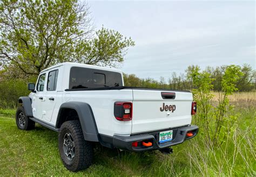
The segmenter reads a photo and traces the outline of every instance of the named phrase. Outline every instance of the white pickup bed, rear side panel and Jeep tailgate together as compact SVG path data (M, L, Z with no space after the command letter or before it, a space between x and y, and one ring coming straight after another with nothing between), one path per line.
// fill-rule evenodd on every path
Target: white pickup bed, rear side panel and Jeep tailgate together
M91 105L99 133L113 135L108 132L113 130L117 135L130 135L191 124L193 98L190 91L127 86L76 88L65 91L71 93L70 98L73 98L73 101L74 98L83 98L83 101ZM164 98L162 93L174 94L174 98ZM113 114L114 102L128 100L133 104L132 120L116 120ZM165 109L166 106L168 109ZM110 125L105 124L104 119L108 118L110 119L107 121L112 122L111 127L105 126Z

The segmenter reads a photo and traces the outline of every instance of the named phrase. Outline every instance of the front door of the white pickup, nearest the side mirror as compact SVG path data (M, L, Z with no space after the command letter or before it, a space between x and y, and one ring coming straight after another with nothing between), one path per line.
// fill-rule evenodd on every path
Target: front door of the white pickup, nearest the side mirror
M44 101L45 76L46 76L45 73L43 73L39 76L37 86L36 86L35 97L33 97L33 101L32 101L33 116L37 119L43 118L43 107L42 106L43 106L43 101Z

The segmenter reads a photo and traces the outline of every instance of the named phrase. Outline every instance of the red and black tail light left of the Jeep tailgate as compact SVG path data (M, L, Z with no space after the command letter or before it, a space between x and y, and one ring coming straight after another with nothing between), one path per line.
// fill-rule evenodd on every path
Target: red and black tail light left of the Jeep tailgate
M114 103L114 117L120 121L132 120L132 103L121 101Z

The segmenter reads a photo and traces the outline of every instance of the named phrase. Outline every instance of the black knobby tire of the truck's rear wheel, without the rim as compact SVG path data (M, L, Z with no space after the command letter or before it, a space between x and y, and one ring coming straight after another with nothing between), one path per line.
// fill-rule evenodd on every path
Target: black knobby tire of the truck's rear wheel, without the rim
M66 156L64 148L64 137L71 134L75 153L72 159ZM93 147L91 142L84 140L84 135L78 120L66 121L62 124L58 135L58 147L60 158L69 171L77 172L88 168L92 164Z

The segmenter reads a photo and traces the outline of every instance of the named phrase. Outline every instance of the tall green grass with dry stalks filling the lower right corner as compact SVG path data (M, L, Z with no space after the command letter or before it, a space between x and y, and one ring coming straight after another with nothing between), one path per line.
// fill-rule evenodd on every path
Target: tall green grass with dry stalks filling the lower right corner
M156 176L254 176L255 140L252 130L235 130L228 134L225 145L215 148L199 135L185 142L172 156L166 156L159 168L151 169ZM180 158L184 158L180 160ZM158 163L160 163L158 161ZM156 165L158 164L156 163Z

